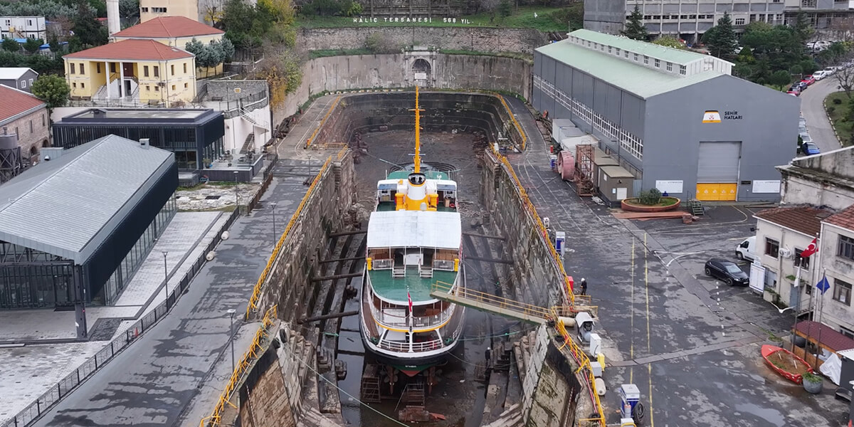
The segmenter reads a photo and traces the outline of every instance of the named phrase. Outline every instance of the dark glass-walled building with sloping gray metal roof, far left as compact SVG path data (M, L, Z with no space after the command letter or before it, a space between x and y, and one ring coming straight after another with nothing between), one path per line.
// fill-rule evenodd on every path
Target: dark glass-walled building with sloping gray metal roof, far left
M178 167L114 135L48 157L0 185L0 309L80 315L116 301L173 218Z

